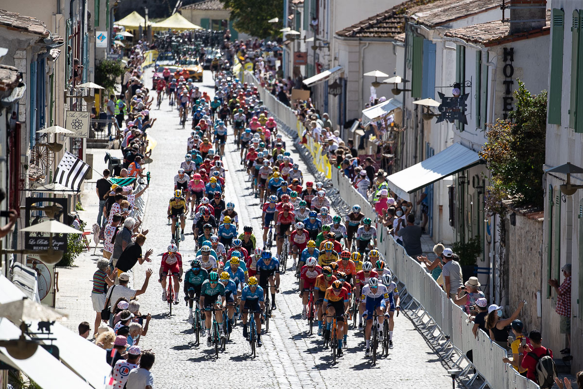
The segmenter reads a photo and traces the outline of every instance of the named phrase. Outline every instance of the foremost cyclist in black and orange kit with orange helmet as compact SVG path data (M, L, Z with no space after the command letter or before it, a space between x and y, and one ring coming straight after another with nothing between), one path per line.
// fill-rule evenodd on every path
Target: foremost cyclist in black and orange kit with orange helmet
M345 282L337 279L332 282L332 286L326 289L324 294L324 309L326 310L326 331L324 331L324 339L330 339L330 329L332 325L332 317L336 316L338 339L338 356L342 356L342 340L345 336L345 318L348 317L350 308L350 292L345 288ZM335 347L336 345L332 345Z

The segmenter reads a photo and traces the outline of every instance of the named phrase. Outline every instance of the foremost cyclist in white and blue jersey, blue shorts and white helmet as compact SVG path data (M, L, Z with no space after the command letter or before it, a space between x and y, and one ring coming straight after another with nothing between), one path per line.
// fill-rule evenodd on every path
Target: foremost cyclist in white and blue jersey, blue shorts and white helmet
M367 285L364 286L360 299L364 302L366 307L366 312L363 314L363 316L366 317L366 331L364 331L366 351L364 352L364 356L370 356L370 330L373 327L373 314L375 311L378 315L378 337L381 341L384 337L382 333L382 324L385 320L385 307L387 306L387 300L389 300L387 286L378 282L378 278L372 277L368 280Z

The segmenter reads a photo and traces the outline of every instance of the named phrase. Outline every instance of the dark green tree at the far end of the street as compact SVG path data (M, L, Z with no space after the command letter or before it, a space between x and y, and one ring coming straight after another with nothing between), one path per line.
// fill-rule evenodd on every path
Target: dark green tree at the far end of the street
M258 38L279 36L282 23L269 23L269 19L282 19L283 0L221 0L231 9L235 29Z

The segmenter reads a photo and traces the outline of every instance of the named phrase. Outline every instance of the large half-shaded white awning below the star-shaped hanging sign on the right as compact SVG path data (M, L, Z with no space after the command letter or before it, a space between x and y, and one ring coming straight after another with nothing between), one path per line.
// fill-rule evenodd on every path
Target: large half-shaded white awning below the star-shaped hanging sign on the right
M398 197L410 201L410 193L458 171L476 166L481 161L482 158L478 153L462 146L460 143L454 143L423 162L391 174L391 176L387 177L387 183Z

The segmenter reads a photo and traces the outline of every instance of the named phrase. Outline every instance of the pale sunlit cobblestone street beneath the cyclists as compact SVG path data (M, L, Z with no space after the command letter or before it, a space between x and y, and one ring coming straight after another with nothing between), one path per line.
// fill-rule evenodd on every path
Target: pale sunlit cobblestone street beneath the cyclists
M151 83L152 72L146 72L144 79ZM210 72L205 71L202 91L213 95L213 80ZM152 268L145 295L139 297L142 314L151 313L152 322L147 336L141 339L142 349L152 349L156 353L153 373L156 388L336 388L342 387L391 387L391 388L448 388L451 378L436 353L426 344L412 322L401 315L395 317L394 348L387 357L380 358L376 366L364 358L364 337L362 332L353 330L350 325L347 348L343 358L336 365L331 364L331 353L322 347L321 338L308 335L307 321L302 321L301 300L298 296L297 282L293 272L282 275L281 293L276 296L278 308L270 330L262 336L264 345L257 349L257 358L250 358L250 346L241 336L241 327L234 328L226 351L214 358L214 353L206 347L205 339L199 346L194 345L194 335L188 324L188 309L185 306L182 285L180 304L173 307L172 316L168 315L168 305L162 301L161 286L158 282L160 255L170 243L170 226L167 224L166 211L168 199L173 195L173 178L180 163L184 160L186 141L190 135L190 121L187 128L179 125L178 113L171 110L164 100L160 110L151 110L157 118L154 128L149 131L157 142L153 149L152 160L146 170L152 174L147 190L147 206L144 228L149 229L145 250L154 250L153 261L134 267L132 283L139 288L145 271ZM239 153L232 143L232 132L227 139L224 157L226 171L226 201L235 204L239 215L240 231L243 225L252 225L254 234L261 243L261 209L259 199L255 198L247 181L247 174L240 164ZM287 150L295 162L300 164L305 181L313 180L307 167L294 150L291 139L284 135ZM104 150L94 151L94 168L103 170ZM113 155L119 156L118 150ZM94 181L86 183L83 206L86 212L87 228L94 223L97 209ZM187 219L186 240L180 244L183 264L194 259L194 240L191 229L192 219ZM92 243L93 246L93 243ZM275 248L274 248L275 251ZM97 253L99 254L99 248ZM98 255L83 253L76 261L78 267L59 269L60 292L57 296L57 309L69 314L68 327L76 331L80 321L86 320L93 326L90 278L96 269L94 262ZM289 261L291 264L291 260ZM291 270L291 267L288 268ZM315 332L315 331L314 331Z

